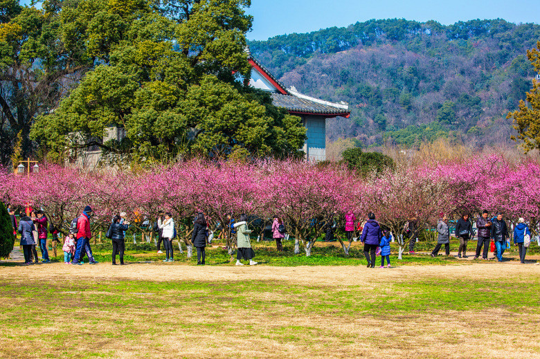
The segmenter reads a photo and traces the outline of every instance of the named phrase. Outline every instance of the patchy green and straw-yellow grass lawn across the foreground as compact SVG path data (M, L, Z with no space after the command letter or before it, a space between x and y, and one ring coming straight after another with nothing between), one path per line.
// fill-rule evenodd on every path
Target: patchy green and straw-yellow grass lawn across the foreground
M540 358L539 266L354 260L4 262L0 358Z

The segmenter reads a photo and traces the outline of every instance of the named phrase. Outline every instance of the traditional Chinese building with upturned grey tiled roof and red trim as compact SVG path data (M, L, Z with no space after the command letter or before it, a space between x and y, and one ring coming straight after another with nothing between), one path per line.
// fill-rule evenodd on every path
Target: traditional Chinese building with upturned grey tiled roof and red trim
M275 106L283 107L291 115L302 118L302 123L307 128L307 140L303 147L306 158L308 160L325 160L326 119L337 116L348 118L350 116L349 105L343 101L336 103L312 98L299 93L294 87L286 89L251 55L249 63L253 66L249 84L255 89L271 92Z

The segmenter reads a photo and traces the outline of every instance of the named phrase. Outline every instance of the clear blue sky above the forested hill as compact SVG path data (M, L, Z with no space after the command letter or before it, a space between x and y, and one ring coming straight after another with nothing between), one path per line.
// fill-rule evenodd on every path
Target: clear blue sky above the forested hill
M369 19L427 21L441 24L471 19L501 18L510 22L540 22L540 0L251 0L250 40L275 35L309 33L332 26L348 26Z

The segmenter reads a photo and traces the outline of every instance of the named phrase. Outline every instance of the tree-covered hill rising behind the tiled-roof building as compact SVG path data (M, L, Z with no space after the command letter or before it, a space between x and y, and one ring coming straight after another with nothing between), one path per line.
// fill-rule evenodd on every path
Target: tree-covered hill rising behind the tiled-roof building
M485 145L510 141L505 117L532 86L526 51L539 40L540 25L503 19L387 19L249 47L286 86L349 102L351 117L329 126L330 140L413 145L446 136Z

